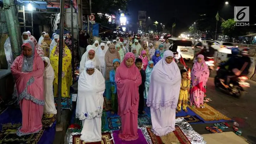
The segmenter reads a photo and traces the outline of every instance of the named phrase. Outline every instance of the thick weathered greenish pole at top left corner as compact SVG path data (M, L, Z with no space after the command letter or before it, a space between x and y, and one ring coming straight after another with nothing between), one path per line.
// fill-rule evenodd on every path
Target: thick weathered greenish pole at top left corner
M4 10L6 25L10 37L13 60L20 55L20 47L22 45L20 23L18 20L18 13L16 3L14 0L3 0L4 7L9 7Z

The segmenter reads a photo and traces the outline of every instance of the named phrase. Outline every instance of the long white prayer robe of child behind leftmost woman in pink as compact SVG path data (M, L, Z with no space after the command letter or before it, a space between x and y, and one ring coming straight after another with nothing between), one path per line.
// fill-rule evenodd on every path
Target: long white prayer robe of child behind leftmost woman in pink
M50 63L50 59L47 57L42 58L48 65L44 68L44 113L57 114L57 110L54 104L54 96L52 90L52 84L54 80L54 71Z

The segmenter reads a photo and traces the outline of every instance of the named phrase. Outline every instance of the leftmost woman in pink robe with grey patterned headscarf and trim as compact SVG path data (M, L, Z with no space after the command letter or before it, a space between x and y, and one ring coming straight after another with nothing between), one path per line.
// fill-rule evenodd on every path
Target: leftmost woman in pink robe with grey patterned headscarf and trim
M44 62L33 41L24 41L22 53L13 61L11 71L22 112L22 125L17 135L37 133L42 129L44 112Z

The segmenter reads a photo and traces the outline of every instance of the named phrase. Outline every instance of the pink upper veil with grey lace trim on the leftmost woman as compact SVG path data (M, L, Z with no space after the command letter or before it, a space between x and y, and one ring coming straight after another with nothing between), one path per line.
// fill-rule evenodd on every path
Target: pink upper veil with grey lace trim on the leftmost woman
M11 71L15 79L17 94L20 101L26 99L38 105L44 105L44 62L37 54L33 41L26 40L24 43L26 43L23 44L25 46L30 45L34 55L26 58L21 52L21 55L12 63Z

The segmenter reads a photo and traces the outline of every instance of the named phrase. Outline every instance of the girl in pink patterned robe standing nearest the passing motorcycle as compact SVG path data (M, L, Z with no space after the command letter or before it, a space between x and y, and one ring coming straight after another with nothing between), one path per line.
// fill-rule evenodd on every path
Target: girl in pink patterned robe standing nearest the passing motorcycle
M209 75L209 68L204 61L204 56L199 54L191 70L192 88L189 99L191 106L204 108L204 93L206 92L206 83Z

